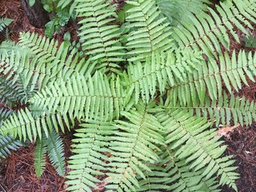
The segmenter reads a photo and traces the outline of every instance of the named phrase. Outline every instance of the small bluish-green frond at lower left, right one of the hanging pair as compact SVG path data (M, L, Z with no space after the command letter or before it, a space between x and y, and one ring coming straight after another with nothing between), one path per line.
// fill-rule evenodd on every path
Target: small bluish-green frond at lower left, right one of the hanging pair
M60 138L59 134L53 130L50 132L49 136L47 138L43 138L43 140L46 143L46 148L51 164L57 170L57 173L64 177L65 156L62 138Z

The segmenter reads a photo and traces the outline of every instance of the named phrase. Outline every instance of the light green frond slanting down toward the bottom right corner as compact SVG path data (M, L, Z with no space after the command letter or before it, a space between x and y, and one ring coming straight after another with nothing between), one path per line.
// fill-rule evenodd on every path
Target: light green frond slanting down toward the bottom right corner
M220 146L222 143L218 141L214 129L207 130L210 123L206 123L206 118L192 117L184 110L169 110L168 114L159 114L158 119L162 125L168 130L166 134L166 145L168 151L174 151L174 154L169 155L175 157L178 162L177 166L184 170L173 170L173 164L170 164L167 169L170 169L170 176L174 177L171 182L174 185L171 190L184 188L184 182L191 182L190 186L198 184L198 180L189 178L187 181L184 177L178 176L179 172L184 172L188 177L191 177L190 170L202 170L199 177L209 179L214 174L219 176L220 185L228 185L237 190L234 181L238 178L238 174L234 173L236 167L230 166L234 161L230 160L230 156L221 158L220 156L226 150L226 146ZM169 158L170 158L169 157ZM168 162L170 160L166 160ZM177 173L177 174L176 174ZM180 189L179 189L180 190ZM177 191L179 191L177 190Z

